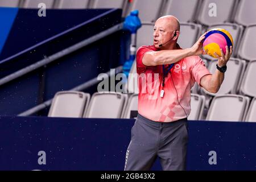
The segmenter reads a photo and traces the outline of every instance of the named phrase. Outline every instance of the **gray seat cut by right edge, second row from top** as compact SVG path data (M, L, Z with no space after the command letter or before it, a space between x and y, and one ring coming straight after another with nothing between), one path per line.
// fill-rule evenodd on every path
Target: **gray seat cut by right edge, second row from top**
M241 44L238 49L238 57L247 61L256 60L256 24L245 29Z

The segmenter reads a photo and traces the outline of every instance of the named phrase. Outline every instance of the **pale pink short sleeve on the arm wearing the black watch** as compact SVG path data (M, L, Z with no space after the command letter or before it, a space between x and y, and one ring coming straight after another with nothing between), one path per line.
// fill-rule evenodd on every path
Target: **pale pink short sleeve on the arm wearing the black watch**
M201 77L205 75L212 75L212 73L209 72L205 67L204 61L199 57L192 68L192 77L200 85Z

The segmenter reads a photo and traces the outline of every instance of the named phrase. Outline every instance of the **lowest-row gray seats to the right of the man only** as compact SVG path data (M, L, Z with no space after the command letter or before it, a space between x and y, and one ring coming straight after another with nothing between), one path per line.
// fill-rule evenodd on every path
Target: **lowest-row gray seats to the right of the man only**
M191 114L188 119L256 122L256 97L250 102L249 97L237 94L219 94L214 96L206 118L203 116L204 106L204 96L191 94Z

